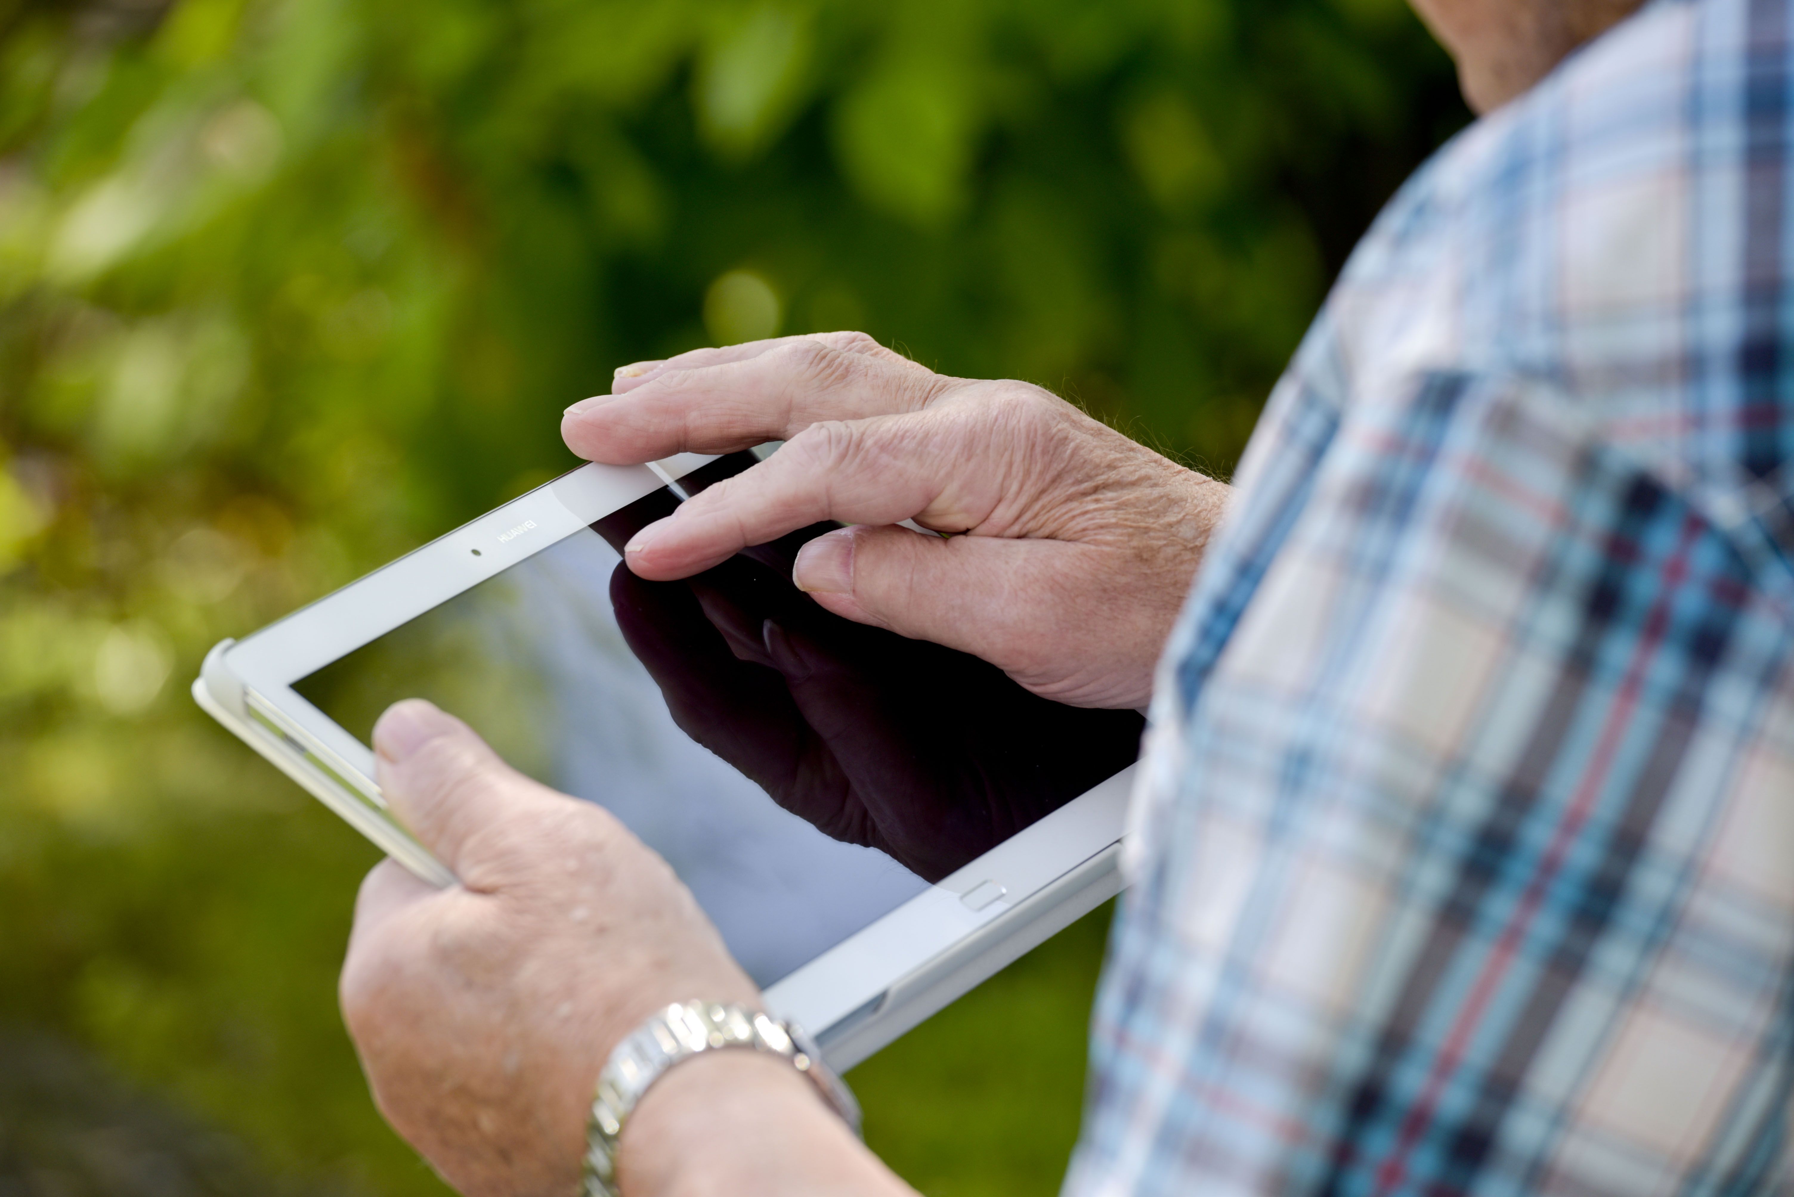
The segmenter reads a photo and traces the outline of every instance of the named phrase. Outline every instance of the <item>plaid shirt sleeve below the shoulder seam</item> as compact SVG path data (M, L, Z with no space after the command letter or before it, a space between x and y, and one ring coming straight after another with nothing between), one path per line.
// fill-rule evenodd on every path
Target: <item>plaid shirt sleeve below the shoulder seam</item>
M1525 380L1292 383L1247 473L1067 1193L1787 1184L1785 564Z

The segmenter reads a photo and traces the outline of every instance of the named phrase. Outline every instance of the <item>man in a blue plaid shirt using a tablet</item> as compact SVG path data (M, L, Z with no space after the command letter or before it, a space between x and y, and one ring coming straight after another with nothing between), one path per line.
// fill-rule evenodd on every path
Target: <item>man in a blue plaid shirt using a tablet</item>
M1231 498L852 335L626 367L563 432L789 441L640 532L644 577L838 518L797 564L829 609L1067 702L1152 693L1067 1192L1787 1190L1794 13L1421 7L1489 115L1365 238ZM465 1192L569 1193L612 1046L757 995L601 810L427 704L377 749L465 887L364 887L375 1095ZM671 1068L617 1167L902 1190L750 1052Z

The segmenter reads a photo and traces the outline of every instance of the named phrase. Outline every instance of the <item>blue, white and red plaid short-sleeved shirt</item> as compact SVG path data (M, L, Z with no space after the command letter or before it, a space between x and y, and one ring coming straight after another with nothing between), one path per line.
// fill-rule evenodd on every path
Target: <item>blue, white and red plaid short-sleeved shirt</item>
M1794 0L1444 149L1157 686L1067 1192L1794 1192Z

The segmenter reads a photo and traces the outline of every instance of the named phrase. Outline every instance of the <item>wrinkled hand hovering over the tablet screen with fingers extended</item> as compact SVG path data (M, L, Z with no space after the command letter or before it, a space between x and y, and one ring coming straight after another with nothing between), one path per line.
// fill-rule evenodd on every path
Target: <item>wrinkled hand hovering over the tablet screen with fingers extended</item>
M626 550L640 577L852 523L797 561L822 606L1078 706L1145 706L1227 496L1039 387L935 375L863 333L700 349L624 367L614 389L562 421L590 461L786 441L642 529Z

